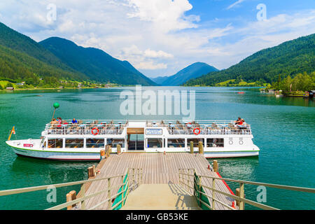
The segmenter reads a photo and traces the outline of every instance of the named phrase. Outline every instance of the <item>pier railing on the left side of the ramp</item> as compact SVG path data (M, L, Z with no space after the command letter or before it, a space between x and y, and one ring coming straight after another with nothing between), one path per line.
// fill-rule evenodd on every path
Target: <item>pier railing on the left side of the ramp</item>
M118 185L112 185L111 183L115 180L119 179L120 184ZM89 200L92 197L96 197L98 195L102 195L104 193L107 193L107 198L105 200L102 200L102 202L99 202L97 204L94 204L92 207L89 207L87 210L97 209L98 207L101 207L102 205L106 204L108 202L107 209L109 210L118 210L121 207L124 206L125 201L127 200L127 196L130 193L131 190L134 190L135 188L138 188L139 185L141 185L143 179L143 169L139 168L130 168L127 169L127 172L123 175L117 175L117 176L110 176L105 178L99 178L99 179L90 179L87 181L74 181L74 182L68 182L68 183L57 183L57 184L51 184L51 185L45 185L45 186L36 186L31 188L18 188L18 189L11 189L11 190L1 190L0 196L5 195L17 195L21 193L29 193L34 192L38 190L47 190L48 188L62 188L67 186L76 186L76 185L82 185L80 196L79 198L75 200L71 200L70 202L65 202L62 204L59 204L55 207L50 207L46 210L59 210L64 208L72 208L73 209L86 209L86 201ZM86 183L92 183L95 181L107 181L107 187L99 190L97 193L92 193L90 195L85 195L85 184ZM113 190L117 190L119 188L117 193L113 194ZM112 203L112 200L113 203Z

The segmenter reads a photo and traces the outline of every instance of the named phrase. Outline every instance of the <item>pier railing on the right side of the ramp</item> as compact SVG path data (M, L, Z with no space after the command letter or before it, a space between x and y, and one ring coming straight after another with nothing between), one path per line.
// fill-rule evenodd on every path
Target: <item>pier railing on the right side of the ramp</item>
M202 179L210 179L212 181L212 187L202 184ZM234 183L239 183L239 188L237 189L237 194L232 195L231 193L223 192L222 190L216 188L216 181L230 181ZM239 210L244 210L245 204L251 204L253 207L265 210L279 210L274 207L270 207L259 202L254 202L253 200L248 200L244 196L244 185L253 186L265 186L269 188L277 188L282 190L293 190L304 193L315 193L315 188L301 188L295 186L283 186L272 183L259 183L253 181L242 181L234 179L219 178L214 176L200 175L195 172L195 169L179 169L179 183L188 189L188 192L196 197L196 200L202 209L216 210L216 203L222 204L223 207L227 207L230 210L236 210L236 206L225 204L216 198L216 194L222 194L227 197L234 199L237 203ZM211 193L206 193L204 189L211 190ZM234 204L235 205L235 204Z

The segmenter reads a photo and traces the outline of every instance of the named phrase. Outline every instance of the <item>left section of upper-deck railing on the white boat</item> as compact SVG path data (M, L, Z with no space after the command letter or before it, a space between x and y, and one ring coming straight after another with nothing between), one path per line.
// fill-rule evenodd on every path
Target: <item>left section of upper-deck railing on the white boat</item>
M63 120L62 123L49 123L45 127L45 134L123 134L128 121L119 120Z

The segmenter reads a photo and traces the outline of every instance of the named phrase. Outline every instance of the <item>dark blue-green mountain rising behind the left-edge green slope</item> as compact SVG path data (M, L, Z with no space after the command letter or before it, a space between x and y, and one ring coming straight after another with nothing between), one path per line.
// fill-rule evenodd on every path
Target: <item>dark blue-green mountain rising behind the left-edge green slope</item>
M39 42L67 66L92 80L124 85L156 85L127 61L120 61L103 50L83 48L64 38L51 37Z

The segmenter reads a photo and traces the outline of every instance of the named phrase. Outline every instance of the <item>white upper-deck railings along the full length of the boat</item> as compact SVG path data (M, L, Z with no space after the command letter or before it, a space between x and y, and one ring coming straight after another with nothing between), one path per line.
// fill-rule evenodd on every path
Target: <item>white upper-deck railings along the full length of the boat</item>
M132 121L132 120L131 120ZM144 121L144 120L134 120ZM63 120L62 123L48 123L44 134L123 134L129 120ZM235 125L233 120L194 120L179 122L179 120L146 120L145 127L165 127L172 135L199 135L199 134L252 134L251 125Z

